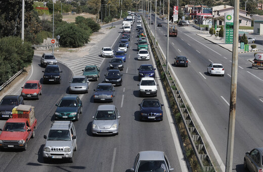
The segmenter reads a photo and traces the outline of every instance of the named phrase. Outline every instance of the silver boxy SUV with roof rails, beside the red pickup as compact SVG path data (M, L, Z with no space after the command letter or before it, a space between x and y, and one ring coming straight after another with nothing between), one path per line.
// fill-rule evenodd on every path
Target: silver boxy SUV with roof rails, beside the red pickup
M49 135L44 135L46 145L43 147L43 161L51 159L68 159L73 162L73 151L77 150L76 130L72 121L55 121L51 124Z

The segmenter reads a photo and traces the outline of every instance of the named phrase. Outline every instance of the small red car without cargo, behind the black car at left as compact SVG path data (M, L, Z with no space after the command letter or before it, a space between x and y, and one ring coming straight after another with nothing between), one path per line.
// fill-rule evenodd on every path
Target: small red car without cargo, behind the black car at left
M39 95L42 95L42 85L39 80L28 80L24 87L22 87L21 96L24 99L34 98L39 99Z

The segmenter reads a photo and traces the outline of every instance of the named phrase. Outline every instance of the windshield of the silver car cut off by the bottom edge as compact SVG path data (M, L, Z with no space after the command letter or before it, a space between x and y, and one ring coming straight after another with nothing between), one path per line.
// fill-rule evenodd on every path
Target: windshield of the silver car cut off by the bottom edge
M163 160L155 161L139 161L138 163L138 172L146 171L167 171L167 166Z

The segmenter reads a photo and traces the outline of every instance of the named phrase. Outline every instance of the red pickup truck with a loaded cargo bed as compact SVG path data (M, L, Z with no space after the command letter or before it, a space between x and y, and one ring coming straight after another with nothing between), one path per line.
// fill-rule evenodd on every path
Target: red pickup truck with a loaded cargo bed
M13 118L7 120L1 135L0 148L21 148L27 149L30 138L35 137L36 118L34 107L19 105L13 109Z

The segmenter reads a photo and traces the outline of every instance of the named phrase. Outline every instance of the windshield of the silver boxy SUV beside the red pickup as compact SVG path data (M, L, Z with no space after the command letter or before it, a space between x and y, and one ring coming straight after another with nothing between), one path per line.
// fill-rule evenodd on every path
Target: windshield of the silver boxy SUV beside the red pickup
M48 140L70 141L69 130L50 130Z

